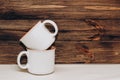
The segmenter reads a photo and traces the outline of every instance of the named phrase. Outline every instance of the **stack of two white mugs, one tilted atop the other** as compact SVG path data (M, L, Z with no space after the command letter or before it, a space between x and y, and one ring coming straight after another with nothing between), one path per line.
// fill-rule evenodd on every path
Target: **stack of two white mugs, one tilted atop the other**
M55 32L51 33L45 24L51 24ZM58 27L52 20L39 21L31 28L21 39L27 51L21 51L17 57L18 66L22 69L28 69L32 74L49 74L54 72L55 47L52 46L55 36L58 33ZM27 56L26 65L20 63L23 55Z

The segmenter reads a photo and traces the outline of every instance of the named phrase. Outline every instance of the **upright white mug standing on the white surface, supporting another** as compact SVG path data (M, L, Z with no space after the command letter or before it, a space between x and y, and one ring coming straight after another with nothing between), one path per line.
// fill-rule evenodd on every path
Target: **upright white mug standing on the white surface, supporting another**
M27 56L27 63L23 66L20 59L23 55ZM17 57L17 64L22 69L28 69L32 74L49 74L54 72L55 65L55 47L50 50L32 50L21 51Z

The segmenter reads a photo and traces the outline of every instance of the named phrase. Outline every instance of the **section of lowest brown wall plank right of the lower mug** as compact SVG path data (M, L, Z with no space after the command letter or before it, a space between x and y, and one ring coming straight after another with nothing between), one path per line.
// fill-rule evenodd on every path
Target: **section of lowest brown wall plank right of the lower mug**
M99 42L99 41L66 41L56 42L58 48L56 60L58 63L119 63L120 42ZM92 53L94 59L88 57Z

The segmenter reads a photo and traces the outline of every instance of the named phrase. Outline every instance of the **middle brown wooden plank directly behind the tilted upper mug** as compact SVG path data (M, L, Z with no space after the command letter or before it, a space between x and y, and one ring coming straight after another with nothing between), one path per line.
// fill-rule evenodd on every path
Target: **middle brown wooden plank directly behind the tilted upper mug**
M95 26L86 21L54 20L58 24L58 41L91 40L99 33ZM120 40L120 20L94 20L104 29L101 41ZM0 40L19 40L38 20L0 20ZM49 27L49 26L48 26Z

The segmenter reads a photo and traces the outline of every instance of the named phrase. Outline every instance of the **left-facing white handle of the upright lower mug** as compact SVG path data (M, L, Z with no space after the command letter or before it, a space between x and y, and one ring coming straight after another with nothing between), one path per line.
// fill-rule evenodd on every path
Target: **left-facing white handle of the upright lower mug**
M21 51L17 57L17 64L20 68L22 69L27 69L28 68L28 63L25 66L22 66L22 64L20 63L20 59L22 57L22 55L26 55L28 57L28 52L27 51Z

